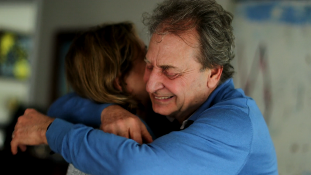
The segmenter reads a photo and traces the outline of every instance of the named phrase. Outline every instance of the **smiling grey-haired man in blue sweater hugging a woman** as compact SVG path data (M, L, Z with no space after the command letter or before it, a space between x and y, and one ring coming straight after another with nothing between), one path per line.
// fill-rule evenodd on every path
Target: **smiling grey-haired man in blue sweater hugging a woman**
M213 0L167 0L147 20L146 89L153 110L179 121L180 131L138 144L27 110L13 153L17 145L49 144L90 174L278 174L262 114L231 79L231 14ZM89 113L106 107L79 100Z

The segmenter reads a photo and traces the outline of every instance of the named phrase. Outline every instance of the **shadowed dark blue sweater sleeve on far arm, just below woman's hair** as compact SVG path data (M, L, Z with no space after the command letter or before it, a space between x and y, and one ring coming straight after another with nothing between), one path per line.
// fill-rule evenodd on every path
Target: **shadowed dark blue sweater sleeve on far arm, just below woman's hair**
M98 104L73 92L58 98L49 107L47 115L61 118L71 123L82 123L88 126L99 127L101 112L110 105L113 104Z

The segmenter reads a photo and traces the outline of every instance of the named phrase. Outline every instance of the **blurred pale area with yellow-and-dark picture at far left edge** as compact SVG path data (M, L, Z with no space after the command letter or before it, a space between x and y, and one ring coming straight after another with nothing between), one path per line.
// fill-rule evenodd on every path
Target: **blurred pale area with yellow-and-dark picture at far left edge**
M12 120L19 102L29 103L37 9L34 1L0 1L0 126ZM0 129L0 148L3 137Z

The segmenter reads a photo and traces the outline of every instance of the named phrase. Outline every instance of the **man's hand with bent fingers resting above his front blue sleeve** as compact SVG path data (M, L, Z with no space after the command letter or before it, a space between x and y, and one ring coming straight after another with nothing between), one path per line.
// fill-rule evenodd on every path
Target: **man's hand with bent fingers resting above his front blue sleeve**
M100 129L129 139L139 144L151 143L152 137L142 121L121 106L106 107L101 113Z

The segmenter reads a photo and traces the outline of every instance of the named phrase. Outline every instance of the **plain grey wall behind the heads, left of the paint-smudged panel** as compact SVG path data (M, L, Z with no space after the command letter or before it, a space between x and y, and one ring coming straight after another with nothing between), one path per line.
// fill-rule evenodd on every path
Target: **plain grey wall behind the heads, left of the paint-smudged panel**
M74 29L94 26L103 22L132 21L140 37L149 42L143 31L142 13L151 12L162 0L45 0L42 2L39 21L39 45L35 53L36 66L33 70L33 87L30 100L33 104L49 105L51 92L51 70L54 34L59 29ZM218 0L225 8L230 0Z

